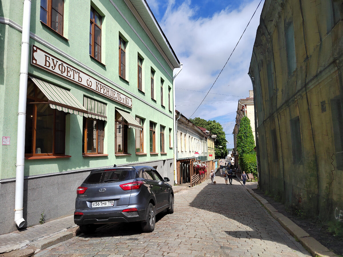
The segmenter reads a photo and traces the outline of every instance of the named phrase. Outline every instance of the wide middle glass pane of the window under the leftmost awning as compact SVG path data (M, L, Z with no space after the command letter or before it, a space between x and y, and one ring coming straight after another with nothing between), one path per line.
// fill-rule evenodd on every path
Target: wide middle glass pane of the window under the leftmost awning
M36 154L52 153L52 133L54 129L53 110L46 104L38 104L36 121Z

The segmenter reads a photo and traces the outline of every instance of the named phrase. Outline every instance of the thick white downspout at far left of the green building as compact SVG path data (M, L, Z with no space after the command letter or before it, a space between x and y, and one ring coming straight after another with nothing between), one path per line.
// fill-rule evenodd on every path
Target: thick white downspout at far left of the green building
M24 158L25 158L25 123L26 123L26 95L27 95L27 72L29 56L31 21L31 0L24 0L23 30L20 57L19 77L19 103L18 103L18 129L17 129L17 160L15 176L15 204L14 221L18 228L25 224L23 218L24 197Z

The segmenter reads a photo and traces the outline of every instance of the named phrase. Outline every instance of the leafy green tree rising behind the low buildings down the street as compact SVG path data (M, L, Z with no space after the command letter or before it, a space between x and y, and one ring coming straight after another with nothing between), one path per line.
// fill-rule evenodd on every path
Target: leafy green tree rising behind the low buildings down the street
M199 117L190 119L190 121L199 127L204 127L206 130L210 131L212 134L217 135L216 140L214 141L214 154L216 158L225 158L227 156L226 149L226 138L223 127L220 123L213 121L206 121Z

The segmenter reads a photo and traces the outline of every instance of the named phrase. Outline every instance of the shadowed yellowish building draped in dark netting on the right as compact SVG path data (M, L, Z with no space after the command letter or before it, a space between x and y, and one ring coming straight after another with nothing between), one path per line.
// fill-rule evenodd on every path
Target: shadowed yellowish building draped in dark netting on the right
M342 0L266 0L253 47L260 187L343 221Z

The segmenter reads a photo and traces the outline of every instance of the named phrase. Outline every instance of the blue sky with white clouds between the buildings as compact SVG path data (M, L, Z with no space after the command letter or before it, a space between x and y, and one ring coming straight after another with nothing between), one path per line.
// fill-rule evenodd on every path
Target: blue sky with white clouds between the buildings
M220 122L233 148L238 99L249 97L252 47L263 1L219 76L260 0L147 0L183 69L175 79L176 110ZM174 73L177 69L174 71ZM192 116L191 116L192 115Z

